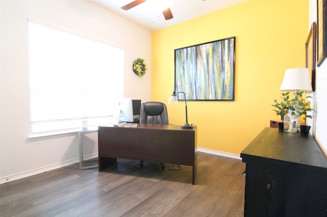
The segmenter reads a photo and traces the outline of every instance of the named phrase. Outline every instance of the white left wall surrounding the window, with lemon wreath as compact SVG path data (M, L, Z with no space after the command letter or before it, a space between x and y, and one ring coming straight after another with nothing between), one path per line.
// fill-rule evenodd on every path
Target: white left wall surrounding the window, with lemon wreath
M1 95L0 183L78 161L77 135L29 141L29 67L27 18L125 50L125 97L151 100L151 32L87 1L0 1ZM132 71L147 60L142 78ZM109 61L109 60L108 60ZM115 64L115 63L112 63ZM97 148L97 133L84 143Z

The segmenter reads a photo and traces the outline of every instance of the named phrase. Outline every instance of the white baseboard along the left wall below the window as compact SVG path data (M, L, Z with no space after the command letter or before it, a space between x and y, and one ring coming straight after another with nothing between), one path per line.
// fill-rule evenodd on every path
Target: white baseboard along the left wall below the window
M83 157L83 159L87 160L87 159L91 159L91 158L95 158L95 157L98 157L98 153L86 155L86 156ZM75 158L75 159L72 159L72 160L67 160L67 161L64 161L64 162L60 162L58 164L42 167L42 168L39 168L39 169L35 169L35 170L23 172L23 173L18 173L18 174L11 175L11 176L8 176L8 177L5 177L5 178L0 178L0 184L5 183L5 182L9 182L9 181L14 181L14 180L21 179L21 178L26 178L28 176L33 176L33 175L36 175L36 174L39 174L39 173L44 173L46 171L58 169L58 168L65 167L65 166L68 166L68 165L76 164L77 162L79 162L79 158Z

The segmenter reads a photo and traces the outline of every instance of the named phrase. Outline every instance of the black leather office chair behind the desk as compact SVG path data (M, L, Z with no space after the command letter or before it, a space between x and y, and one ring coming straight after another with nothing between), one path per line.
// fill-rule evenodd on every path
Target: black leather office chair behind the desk
M140 124L169 124L168 113L165 103L144 102L141 104L139 112ZM139 166L143 167L143 161L139 161ZM160 163L161 169L165 169L164 164Z

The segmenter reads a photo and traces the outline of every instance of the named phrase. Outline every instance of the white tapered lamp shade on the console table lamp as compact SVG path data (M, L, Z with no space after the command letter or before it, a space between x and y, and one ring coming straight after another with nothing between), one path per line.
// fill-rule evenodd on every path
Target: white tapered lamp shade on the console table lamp
M280 91L312 91L308 68L286 69Z

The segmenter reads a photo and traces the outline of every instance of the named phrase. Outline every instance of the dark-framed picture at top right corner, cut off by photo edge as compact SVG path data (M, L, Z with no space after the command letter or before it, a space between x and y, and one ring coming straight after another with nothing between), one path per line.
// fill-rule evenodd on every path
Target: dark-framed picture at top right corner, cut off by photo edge
M317 66L327 57L327 1L317 0Z

